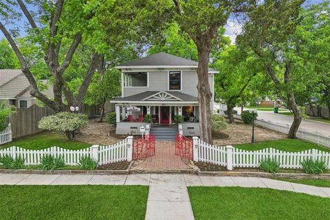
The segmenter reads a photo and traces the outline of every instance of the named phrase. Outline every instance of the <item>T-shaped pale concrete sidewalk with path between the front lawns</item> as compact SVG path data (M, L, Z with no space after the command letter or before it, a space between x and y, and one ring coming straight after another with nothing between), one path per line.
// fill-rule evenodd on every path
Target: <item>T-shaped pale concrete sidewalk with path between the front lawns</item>
M259 177L216 177L194 174L37 175L0 174L0 185L144 185L149 186L146 219L194 219L187 186L273 188L330 197L330 188Z

